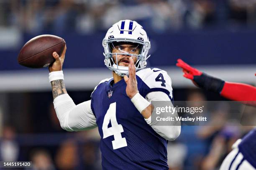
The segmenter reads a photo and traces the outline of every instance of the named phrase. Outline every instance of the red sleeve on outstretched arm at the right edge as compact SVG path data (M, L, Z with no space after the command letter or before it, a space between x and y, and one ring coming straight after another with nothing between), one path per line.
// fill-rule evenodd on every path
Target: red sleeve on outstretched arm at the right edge
M225 82L220 95L229 100L256 101L256 87L236 82ZM256 105L256 102L252 102L251 105Z

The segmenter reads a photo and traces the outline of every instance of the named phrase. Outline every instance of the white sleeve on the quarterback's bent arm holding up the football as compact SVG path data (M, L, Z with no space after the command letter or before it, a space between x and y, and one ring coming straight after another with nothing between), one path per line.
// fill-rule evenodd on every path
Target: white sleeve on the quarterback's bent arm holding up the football
M54 99L54 108L64 130L80 131L97 127L91 100L75 105L68 94L59 95Z

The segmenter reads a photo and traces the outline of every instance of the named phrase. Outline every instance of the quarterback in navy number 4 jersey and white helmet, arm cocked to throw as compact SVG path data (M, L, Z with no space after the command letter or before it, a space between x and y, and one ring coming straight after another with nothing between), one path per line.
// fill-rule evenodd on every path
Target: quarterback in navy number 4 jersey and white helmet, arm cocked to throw
M136 21L115 23L102 41L105 65L113 77L100 81L91 100L75 105L64 85L61 57L49 67L54 108L61 128L80 131L98 127L102 169L168 170L167 140L180 134L180 122L151 121L151 101L172 105L172 83L166 71L145 68L148 36ZM177 116L175 113L173 116Z

